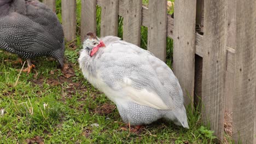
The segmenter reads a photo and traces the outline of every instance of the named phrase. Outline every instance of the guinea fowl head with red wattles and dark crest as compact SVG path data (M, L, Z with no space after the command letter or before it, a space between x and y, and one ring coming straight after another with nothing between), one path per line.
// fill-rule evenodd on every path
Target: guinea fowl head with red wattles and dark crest
M83 49L88 52L92 57L100 47L104 47L103 41L101 41L95 33L89 32L86 34L86 39L84 40Z

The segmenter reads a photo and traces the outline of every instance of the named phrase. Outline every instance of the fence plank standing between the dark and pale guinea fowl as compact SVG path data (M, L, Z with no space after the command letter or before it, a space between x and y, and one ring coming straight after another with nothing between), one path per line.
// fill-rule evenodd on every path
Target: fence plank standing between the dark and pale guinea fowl
M75 0L61 1L61 16L64 35L67 41L75 39L75 31L77 28L76 21L76 2Z

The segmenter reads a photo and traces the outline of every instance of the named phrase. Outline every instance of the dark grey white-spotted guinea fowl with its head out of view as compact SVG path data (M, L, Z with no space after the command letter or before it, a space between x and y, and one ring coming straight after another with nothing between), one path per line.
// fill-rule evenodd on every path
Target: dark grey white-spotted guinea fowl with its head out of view
M37 0L0 0L0 49L27 59L50 56L63 67L64 35L61 23L45 4Z

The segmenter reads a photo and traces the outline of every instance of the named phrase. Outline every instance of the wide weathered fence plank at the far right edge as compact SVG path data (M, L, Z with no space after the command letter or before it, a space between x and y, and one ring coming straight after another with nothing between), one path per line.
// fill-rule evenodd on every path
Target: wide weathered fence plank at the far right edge
M233 112L233 138L235 143L255 143L256 101L256 2L237 1L235 95Z

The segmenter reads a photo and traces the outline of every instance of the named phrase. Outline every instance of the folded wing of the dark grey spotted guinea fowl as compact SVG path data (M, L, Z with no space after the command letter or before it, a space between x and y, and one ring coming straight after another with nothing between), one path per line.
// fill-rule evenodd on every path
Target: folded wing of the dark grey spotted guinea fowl
M0 17L0 41L8 49L21 52L43 53L61 47L60 41L45 32L38 23L18 13Z

